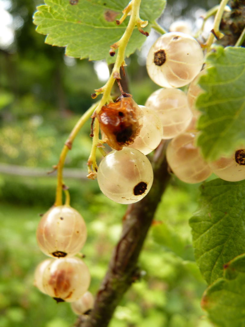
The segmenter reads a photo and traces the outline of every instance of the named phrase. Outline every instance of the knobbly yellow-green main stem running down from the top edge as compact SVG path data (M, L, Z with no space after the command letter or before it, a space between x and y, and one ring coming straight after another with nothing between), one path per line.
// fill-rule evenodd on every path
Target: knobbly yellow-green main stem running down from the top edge
M121 66L126 65L125 61L124 61L125 50L126 50L126 46L127 46L128 41L133 33L135 26L140 25L141 27L144 27L147 25L147 22L142 21L139 17L140 2L141 2L141 0L132 0L126 7L126 11L125 11L125 9L123 10L123 12L124 11L127 12L127 15L129 14L129 12L131 10L130 19L128 22L128 26L126 27L121 39L111 46L115 49L118 49L117 58L116 58L114 67L112 69L112 72L111 72L111 75L110 75L108 81L99 90L99 93L103 93L103 96L95 110L96 113L99 113L101 108L106 103L113 102L112 98L111 98L111 89L113 87L115 80L121 79L120 68L121 68ZM94 136L93 136L92 148L91 148L90 156L88 159L88 173L89 173L88 178L92 178L92 179L96 175L97 168L98 168L97 163L96 163L95 154L96 154L97 145L100 144L100 142L99 142L99 122L98 122L97 118L95 118L95 120L94 120L93 135Z

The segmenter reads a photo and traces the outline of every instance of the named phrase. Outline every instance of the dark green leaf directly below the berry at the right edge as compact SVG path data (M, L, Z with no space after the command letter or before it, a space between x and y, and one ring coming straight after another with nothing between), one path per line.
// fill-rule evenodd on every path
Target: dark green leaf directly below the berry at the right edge
M208 284L223 265L245 252L245 181L220 179L200 187L200 210L190 218L194 255Z

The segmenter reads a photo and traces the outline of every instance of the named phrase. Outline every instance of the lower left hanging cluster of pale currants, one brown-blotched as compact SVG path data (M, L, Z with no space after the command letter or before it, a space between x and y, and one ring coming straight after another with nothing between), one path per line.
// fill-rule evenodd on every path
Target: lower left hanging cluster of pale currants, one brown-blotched
M36 238L41 251L51 258L37 266L34 285L57 302L85 301L89 304L84 308L90 309L92 301L85 296L90 272L81 259L74 257L87 238L83 217L69 205L52 207L42 216Z

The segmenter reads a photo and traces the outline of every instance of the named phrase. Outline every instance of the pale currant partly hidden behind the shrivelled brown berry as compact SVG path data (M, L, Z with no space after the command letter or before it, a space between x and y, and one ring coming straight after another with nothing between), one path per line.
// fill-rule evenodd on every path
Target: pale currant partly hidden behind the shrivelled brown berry
M145 106L139 106L143 112L142 127L139 135L136 136L134 143L129 145L134 149L139 150L143 154L155 150L159 145L163 136L163 126L159 115L152 109Z

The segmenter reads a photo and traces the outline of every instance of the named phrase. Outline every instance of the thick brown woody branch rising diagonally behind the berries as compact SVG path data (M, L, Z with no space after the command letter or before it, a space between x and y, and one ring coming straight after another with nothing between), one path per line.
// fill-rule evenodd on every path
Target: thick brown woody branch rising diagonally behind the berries
M154 182L149 194L130 204L123 217L120 240L113 250L106 276L97 293L94 308L78 327L106 327L113 312L130 285L139 278L137 262L155 210L169 181L164 142L155 151L152 161Z

